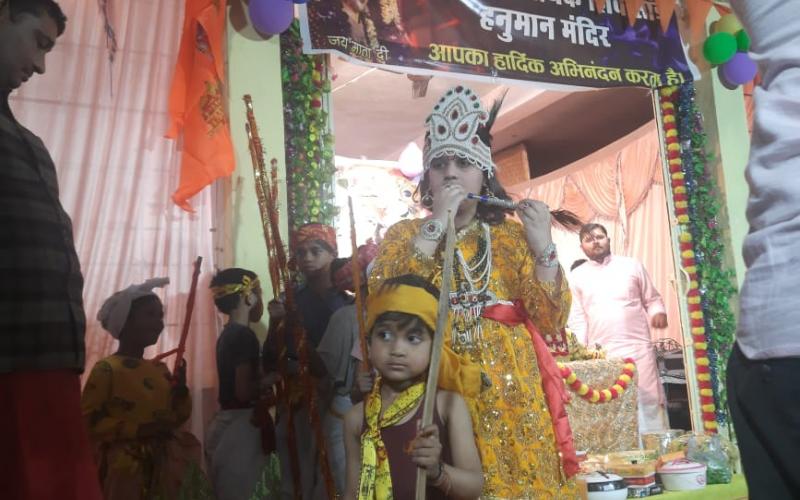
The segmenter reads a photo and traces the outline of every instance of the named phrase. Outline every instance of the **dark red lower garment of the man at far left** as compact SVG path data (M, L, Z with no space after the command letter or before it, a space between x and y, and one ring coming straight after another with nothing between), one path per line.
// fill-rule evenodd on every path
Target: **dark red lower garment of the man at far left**
M14 500L102 500L71 370L0 374L0 492Z

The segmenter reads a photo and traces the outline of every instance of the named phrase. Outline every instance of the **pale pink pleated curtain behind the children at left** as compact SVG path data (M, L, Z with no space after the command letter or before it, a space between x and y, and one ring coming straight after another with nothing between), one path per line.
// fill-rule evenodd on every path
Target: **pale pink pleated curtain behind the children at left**
M48 146L62 203L75 225L85 277L86 373L116 349L95 320L100 305L147 278L169 276L171 283L159 292L166 327L145 356L177 346L192 263L202 255L186 352L194 396L191 430L202 439L216 404L218 319L207 292L216 260L216 217L209 190L193 200L193 215L173 205L179 151L163 138L183 2L109 2L119 43L113 66L97 2L59 3L69 18L67 30L47 57L46 74L12 95L11 107Z

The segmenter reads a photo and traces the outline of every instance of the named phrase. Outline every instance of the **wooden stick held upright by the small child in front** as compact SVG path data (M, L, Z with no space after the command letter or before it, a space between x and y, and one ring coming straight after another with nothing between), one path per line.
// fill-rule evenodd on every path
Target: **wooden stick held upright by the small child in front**
M422 403L422 427L433 423L436 408L436 386L439 384L439 363L442 359L444 334L450 321L450 281L453 278L453 257L456 244L456 228L453 211L447 211L447 236L444 244L444 264L442 266L442 285L439 291L439 310L436 316L436 332L431 347L431 363L428 367L428 381L425 384L425 399ZM428 478L425 469L417 468L416 500L425 500Z

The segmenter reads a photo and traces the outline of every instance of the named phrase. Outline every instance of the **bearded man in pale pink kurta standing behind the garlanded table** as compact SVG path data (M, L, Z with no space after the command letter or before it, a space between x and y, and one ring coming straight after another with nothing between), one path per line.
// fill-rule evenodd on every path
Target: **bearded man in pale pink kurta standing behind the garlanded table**
M570 328L579 341L600 344L608 358L636 361L639 432L664 430L664 392L650 344L650 327L667 326L661 295L641 262L611 255L605 227L584 225L580 241L588 261L570 276Z

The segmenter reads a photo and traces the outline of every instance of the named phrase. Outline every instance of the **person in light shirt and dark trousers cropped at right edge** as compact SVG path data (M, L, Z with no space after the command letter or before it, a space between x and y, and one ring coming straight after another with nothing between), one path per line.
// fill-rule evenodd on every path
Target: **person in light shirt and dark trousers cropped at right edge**
M800 498L800 0L731 4L762 81L728 399L750 498Z

